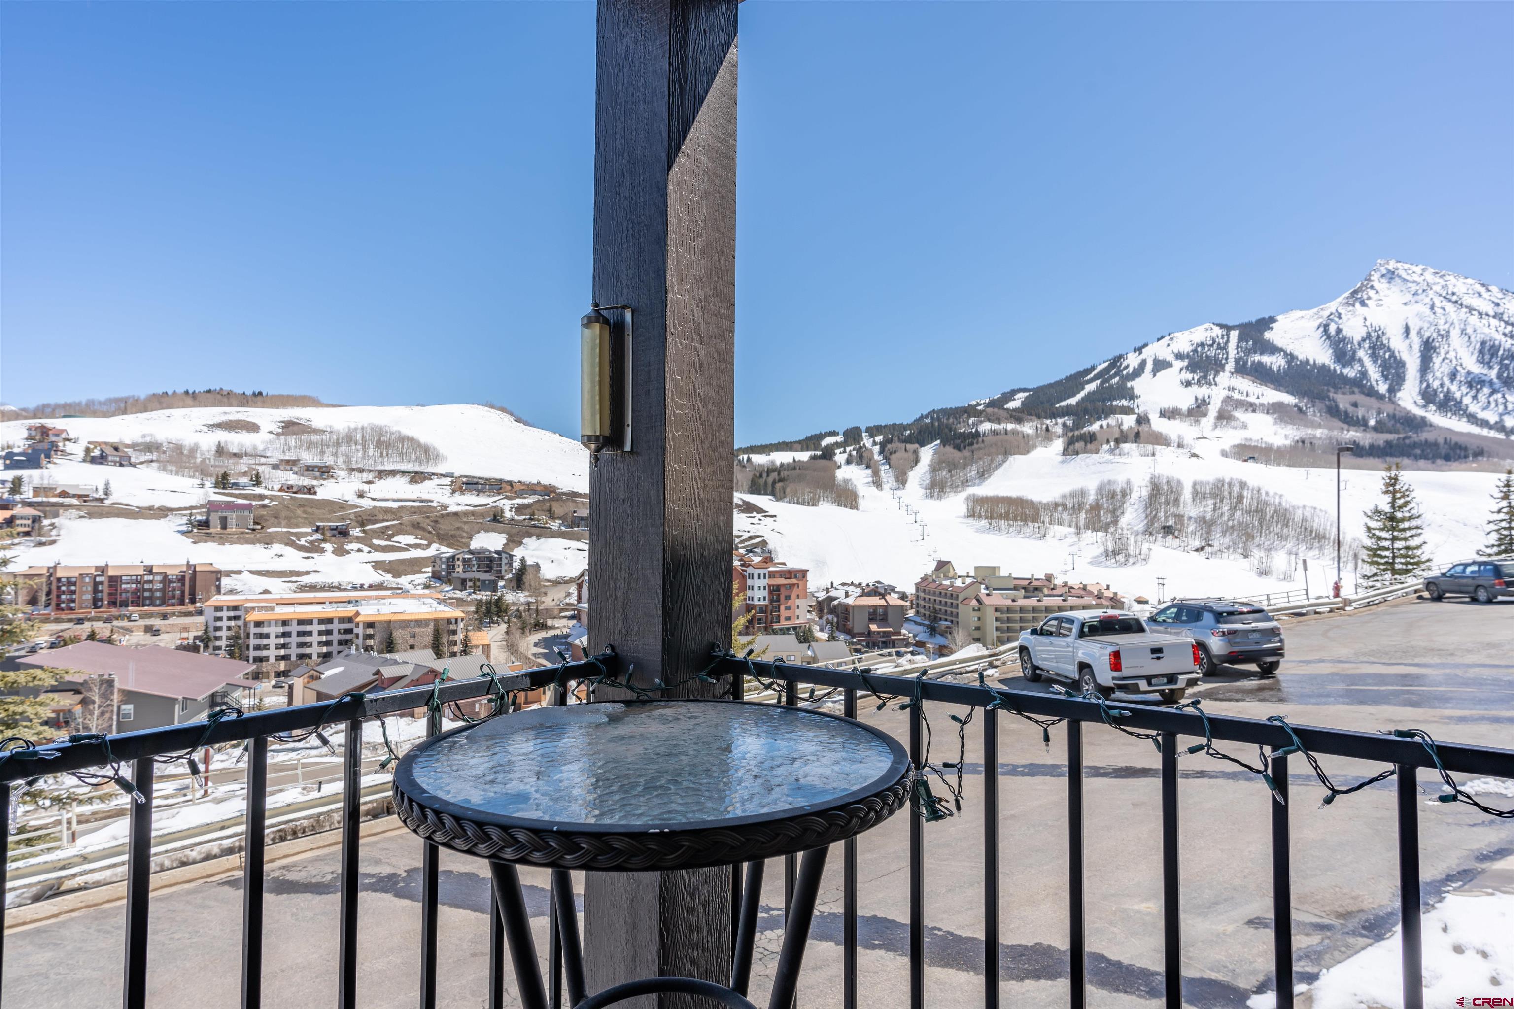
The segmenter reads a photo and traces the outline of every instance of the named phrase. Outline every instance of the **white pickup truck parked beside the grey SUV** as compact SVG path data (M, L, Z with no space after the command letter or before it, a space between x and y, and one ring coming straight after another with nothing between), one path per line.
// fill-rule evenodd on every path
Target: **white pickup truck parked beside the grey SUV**
M1058 613L1020 634L1025 679L1066 679L1079 693L1158 693L1176 703L1199 682L1198 666L1193 641L1152 634L1140 617L1120 610Z

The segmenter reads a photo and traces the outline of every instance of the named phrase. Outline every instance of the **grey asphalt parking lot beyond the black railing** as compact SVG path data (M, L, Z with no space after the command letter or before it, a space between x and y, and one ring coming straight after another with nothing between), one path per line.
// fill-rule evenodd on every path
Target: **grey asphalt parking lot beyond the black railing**
M1437 738L1490 746L1514 740L1514 602L1400 601L1350 616L1285 623L1288 657L1276 679L1222 670L1193 696L1214 713L1281 714L1290 722L1376 731L1414 726ZM1020 681L1010 681L1022 687ZM948 708L931 705L936 761L957 758ZM902 737L907 716L864 719ZM1067 1004L1066 731L999 716L1001 948L1004 1004ZM981 998L981 714L966 731L964 805L928 824L927 1004ZM1093 1006L1149 1006L1161 995L1161 830L1158 755L1101 726L1086 731L1089 985ZM1254 761L1255 752L1228 747ZM1381 770L1323 758L1341 782ZM1248 771L1204 755L1181 764L1181 874L1185 995L1193 1006L1245 1006L1270 989L1272 799ZM1397 918L1394 787L1375 785L1331 806L1302 762L1291 768L1293 912L1297 980L1382 939ZM1434 788L1420 776L1426 799ZM1493 797L1493 805L1509 800ZM333 838L335 840L335 838ZM419 849L403 830L363 847L359 1001L416 1000ZM1514 858L1514 823L1463 805L1420 814L1426 906L1479 885ZM871 1009L908 1004L907 818L858 843L860 977ZM484 1004L488 889L481 862L442 853L441 1004ZM524 873L545 929L544 874ZM781 927L783 873L768 873L759 974L771 970ZM330 1004L335 997L338 861L335 847L274 861L268 870L265 1004ZM239 877L235 871L153 899L150 1000L154 1006L236 1003ZM18 1006L120 1003L120 903L12 930L5 997ZM840 859L816 918L801 1004L839 1006ZM539 942L544 942L544 935ZM540 948L545 948L542 945ZM89 956L80 956L89 950ZM592 956L592 948L590 948ZM1476 964L1472 965L1476 968ZM1479 980L1469 974L1469 980ZM1485 979L1482 979L1485 980ZM765 979L755 991L765 989ZM1473 991L1469 988L1469 991ZM760 998L759 998L760 1001ZM1323 1007L1316 1007L1323 1009Z

